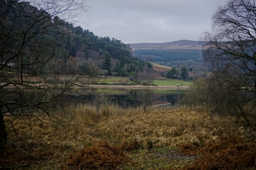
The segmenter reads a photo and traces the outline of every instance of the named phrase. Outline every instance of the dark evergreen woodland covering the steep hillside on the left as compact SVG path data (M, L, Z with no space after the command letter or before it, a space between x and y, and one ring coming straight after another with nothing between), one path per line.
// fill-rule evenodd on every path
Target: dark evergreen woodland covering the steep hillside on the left
M9 2L7 1L7 3ZM50 16L50 13L30 5L28 2L17 1L11 2L9 5L10 6L4 6L1 4L1 11L4 11L2 17L4 17L6 21L6 23L4 23L6 30L11 30L15 34L20 27L29 32L41 29L40 36L46 38L45 43L50 41L52 46L61 51L62 56L59 55L59 57L56 58L61 60L64 65L76 68L78 73L90 71L92 65L97 67L96 70L101 75L112 75L112 72L115 72L115 75L120 76L133 75L140 71L143 72L145 65L152 68L150 63L133 57L129 45L121 43L120 40L115 38L111 39L109 37L98 37L89 30L83 30L80 26L75 27L72 23L60 19L58 15ZM22 13L20 13L21 11ZM44 17L48 15L49 17ZM41 20L40 17L42 18ZM35 19L38 20L38 22L31 24ZM27 22L28 24L24 25L24 23ZM31 28L25 28L26 25L30 26L30 24ZM33 37L34 42L38 42L40 38L43 40L42 37L34 36L29 32L25 34L25 39L32 39ZM4 37L3 40L1 40L2 42L0 42L2 47L13 45L12 40L8 40L8 38L10 38L10 36L8 36L9 34L13 33L8 31L3 32ZM9 44L4 44L6 42L4 39L6 39L7 42L9 41ZM11 37L11 39L17 42L17 48L22 47L22 43L24 42L20 41L20 39L15 39L14 37ZM41 45L46 49L48 48L47 45L51 46L50 43L43 44L43 41L41 42ZM65 56L63 55L64 53ZM4 53L1 54L2 64L15 64L17 62L18 61L15 61L13 57L8 57L7 54ZM17 65L18 64L16 64L16 66ZM37 69L37 71L40 72L42 67L39 66ZM62 68L60 68L59 72L69 73L68 70L64 72Z

